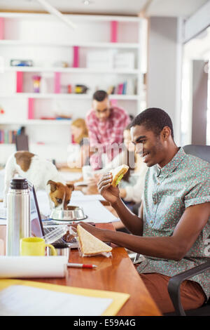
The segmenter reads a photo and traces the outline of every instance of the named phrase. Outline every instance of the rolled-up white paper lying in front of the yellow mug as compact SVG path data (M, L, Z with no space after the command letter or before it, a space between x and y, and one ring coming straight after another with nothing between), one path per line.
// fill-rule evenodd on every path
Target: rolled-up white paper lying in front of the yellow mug
M0 278L65 277L66 256L0 256Z

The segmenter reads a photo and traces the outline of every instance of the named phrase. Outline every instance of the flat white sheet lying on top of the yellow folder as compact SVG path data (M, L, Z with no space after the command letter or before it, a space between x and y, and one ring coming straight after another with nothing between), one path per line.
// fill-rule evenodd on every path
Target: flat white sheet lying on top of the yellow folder
M1 316L100 316L111 298L62 293L12 285L0 291Z

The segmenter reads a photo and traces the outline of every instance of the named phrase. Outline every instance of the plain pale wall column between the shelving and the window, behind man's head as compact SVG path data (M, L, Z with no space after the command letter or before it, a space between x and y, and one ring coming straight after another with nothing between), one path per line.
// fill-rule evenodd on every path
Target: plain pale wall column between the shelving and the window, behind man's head
M172 118L174 138L180 143L181 20L155 18L148 27L147 106L160 107Z

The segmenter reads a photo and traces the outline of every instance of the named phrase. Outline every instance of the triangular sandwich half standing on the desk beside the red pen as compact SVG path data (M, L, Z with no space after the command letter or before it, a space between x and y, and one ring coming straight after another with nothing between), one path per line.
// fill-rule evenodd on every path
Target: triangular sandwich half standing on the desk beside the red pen
M101 253L111 252L111 246L94 237L82 226L77 226L79 249L83 256L96 256Z

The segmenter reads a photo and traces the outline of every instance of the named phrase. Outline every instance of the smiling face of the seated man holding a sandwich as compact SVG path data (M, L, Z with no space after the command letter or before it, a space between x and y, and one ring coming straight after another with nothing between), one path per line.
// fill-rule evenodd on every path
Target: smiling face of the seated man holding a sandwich
M162 143L161 133L156 136L153 131L148 131L144 125L137 125L131 128L132 142L136 145L136 152L143 157L148 167L164 163L165 148Z

